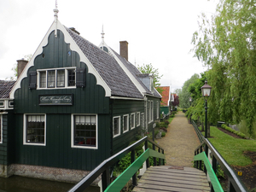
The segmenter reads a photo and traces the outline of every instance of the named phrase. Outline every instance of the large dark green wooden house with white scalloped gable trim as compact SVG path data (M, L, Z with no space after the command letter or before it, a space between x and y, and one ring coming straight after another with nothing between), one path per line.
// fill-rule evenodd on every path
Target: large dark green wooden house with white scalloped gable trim
M128 61L126 41L120 53L55 16L31 61L18 61L17 81L0 84L2 177L77 182L152 130L161 96Z

